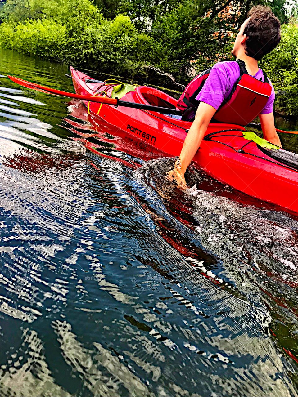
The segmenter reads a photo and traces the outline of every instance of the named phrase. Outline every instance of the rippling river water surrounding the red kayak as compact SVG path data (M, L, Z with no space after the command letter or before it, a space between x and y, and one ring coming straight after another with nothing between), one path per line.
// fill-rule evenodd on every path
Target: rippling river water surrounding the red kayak
M0 395L297 396L297 219L6 77L67 72L0 53Z

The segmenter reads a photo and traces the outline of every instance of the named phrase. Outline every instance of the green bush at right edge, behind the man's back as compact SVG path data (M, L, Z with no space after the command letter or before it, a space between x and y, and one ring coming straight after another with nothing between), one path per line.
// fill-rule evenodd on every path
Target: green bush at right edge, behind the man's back
M282 39L261 62L275 88L275 110L298 117L298 25L282 26Z

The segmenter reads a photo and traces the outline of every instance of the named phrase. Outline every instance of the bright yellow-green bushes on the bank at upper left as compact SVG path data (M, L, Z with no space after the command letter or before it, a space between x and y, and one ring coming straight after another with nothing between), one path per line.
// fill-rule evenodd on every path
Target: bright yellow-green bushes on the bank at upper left
M134 74L141 69L151 40L137 32L128 16L108 21L89 0L28 0L26 19L17 23L20 1L6 3L0 46L113 73ZM8 13L16 3L19 7Z

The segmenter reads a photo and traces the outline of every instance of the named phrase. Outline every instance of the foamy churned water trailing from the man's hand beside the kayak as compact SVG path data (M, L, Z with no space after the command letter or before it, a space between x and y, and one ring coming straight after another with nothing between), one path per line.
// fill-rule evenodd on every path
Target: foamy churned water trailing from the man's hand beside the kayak
M218 269L215 271L195 255L189 255L188 260L213 282L253 303L255 317L263 329L269 327L272 311L280 316L279 320L292 323L293 328L293 302L298 287L297 220L285 213L223 197L219 194L223 187L218 185L209 191L198 189L206 176L197 170L186 175L188 185L195 179L197 185L179 191L165 178L172 164L173 159L152 160L143 164L139 177L148 189L158 193L168 214L176 217L180 211L179 222L191 233L190 240L196 240L197 245L217 258ZM274 326L277 324L271 324L271 328Z

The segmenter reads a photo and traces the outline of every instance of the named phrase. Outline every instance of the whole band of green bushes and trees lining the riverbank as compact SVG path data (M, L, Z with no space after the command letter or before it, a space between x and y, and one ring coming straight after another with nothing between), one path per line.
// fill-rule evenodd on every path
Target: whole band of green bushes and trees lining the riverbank
M270 1L281 21L288 19L286 2ZM233 35L254 4L268 1L245 0L227 12L232 0L7 0L0 10L0 45L130 77L145 77L144 65L154 65L186 84L190 71L231 59ZM281 45L263 61L277 91L276 109L295 116L297 29L283 25Z

